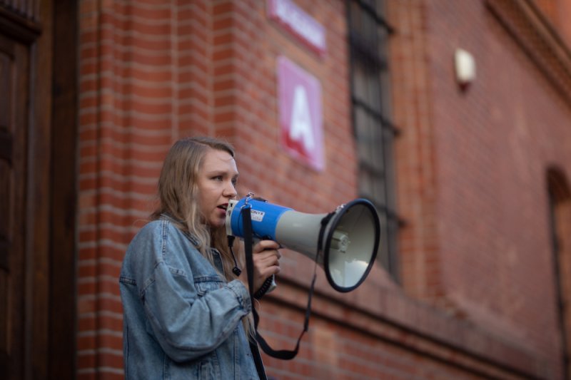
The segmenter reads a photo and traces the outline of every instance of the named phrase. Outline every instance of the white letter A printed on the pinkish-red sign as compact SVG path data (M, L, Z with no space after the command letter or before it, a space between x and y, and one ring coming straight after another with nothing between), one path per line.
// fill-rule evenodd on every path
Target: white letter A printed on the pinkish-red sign
M290 138L302 140L305 150L315 147L308 96L303 86L295 86L293 91L293 108L291 110Z

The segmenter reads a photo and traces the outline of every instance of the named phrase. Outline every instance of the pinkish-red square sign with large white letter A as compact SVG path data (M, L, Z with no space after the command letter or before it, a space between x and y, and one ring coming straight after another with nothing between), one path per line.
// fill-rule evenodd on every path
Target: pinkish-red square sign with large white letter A
M288 58L278 57L281 143L295 159L323 170L321 83Z

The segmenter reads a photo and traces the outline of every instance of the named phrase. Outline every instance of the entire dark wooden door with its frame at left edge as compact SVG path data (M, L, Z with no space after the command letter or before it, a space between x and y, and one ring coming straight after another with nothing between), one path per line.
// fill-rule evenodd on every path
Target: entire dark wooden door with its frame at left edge
M2 380L76 376L76 19L0 0Z

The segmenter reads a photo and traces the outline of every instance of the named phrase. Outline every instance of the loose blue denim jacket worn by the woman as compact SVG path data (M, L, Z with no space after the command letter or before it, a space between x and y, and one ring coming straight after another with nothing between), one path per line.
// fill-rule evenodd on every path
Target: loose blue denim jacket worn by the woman
M126 379L258 379L241 322L248 290L222 279L197 245L163 216L128 246L119 279Z

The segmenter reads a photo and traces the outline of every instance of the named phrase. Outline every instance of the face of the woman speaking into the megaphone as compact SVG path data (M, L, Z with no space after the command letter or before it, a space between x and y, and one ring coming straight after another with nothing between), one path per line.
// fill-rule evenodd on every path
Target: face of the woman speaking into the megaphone
M236 161L224 150L209 149L198 172L198 201L204 222L222 227L228 200L236 197Z

